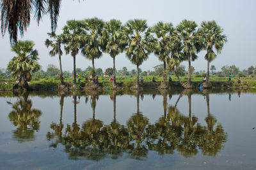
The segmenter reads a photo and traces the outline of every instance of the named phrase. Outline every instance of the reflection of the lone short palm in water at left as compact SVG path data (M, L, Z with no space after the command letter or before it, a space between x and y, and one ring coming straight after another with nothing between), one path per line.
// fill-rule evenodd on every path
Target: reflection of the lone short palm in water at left
M34 141L35 131L39 130L40 110L32 109L32 101L28 99L29 94L24 93L19 101L12 105L13 111L9 113L9 119L13 125L18 126L13 131L13 138L17 141Z

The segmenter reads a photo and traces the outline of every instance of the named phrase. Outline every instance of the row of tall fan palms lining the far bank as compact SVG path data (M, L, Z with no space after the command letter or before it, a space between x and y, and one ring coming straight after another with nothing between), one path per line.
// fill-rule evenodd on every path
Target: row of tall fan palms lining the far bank
M227 36L223 29L214 20L202 22L201 27L191 20L182 20L177 27L172 23L158 22L153 27L148 27L146 20L129 20L122 25L120 20L109 20L104 22L99 18L88 18L85 20L68 20L63 27L63 32L56 35L48 33L50 39L46 39L45 45L51 46L50 54L58 54L60 59L60 80L64 84L61 68L61 44L65 52L71 53L74 58L74 85L76 85L76 55L81 54L92 60L92 79L95 81L94 60L99 59L102 53L109 53L113 58L113 87L116 87L115 57L125 52L128 59L137 68L137 79L135 88L140 88L139 67L144 60L148 59L150 53L155 53L159 60L164 63L161 88L166 89L166 67L173 69L181 85L191 88L191 61L195 60L198 52L206 50L207 77L204 87L209 84L209 63L220 53ZM216 52L214 52L214 49ZM179 63L188 61L188 82L183 83L176 72Z

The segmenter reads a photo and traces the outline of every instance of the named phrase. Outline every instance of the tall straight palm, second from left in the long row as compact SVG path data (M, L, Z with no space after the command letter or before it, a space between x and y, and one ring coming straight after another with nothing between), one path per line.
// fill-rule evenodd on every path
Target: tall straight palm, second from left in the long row
M76 55L79 52L79 48L82 46L82 36L81 36L81 22L76 20L68 20L67 25L63 27L63 43L65 44L65 50L68 54L71 52L71 55L74 59L74 85L76 86Z

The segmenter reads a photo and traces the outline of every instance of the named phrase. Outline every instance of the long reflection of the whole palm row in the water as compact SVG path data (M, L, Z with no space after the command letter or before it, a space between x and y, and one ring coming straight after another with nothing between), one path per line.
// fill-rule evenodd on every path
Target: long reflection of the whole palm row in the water
M148 118L140 112L140 95L143 96L143 92L135 91L134 94L137 111L127 120L126 125L121 125L116 120L115 91L111 94L113 121L109 125L103 125L101 120L95 119L96 98L99 95L97 92L91 92L92 119L84 122L80 129L76 123L76 102L74 102L75 118L72 127L67 125L65 134L61 136L60 118L60 125L52 128L53 136L58 138L57 142L65 146L65 152L69 154L70 159L97 161L106 157L118 159L124 153L132 159L145 160L150 150L161 155L173 154L177 150L184 157L191 157L202 150L204 155L215 156L223 148L227 134L220 124L216 124L216 118L209 113L209 92L204 91L207 101L206 126L200 125L198 118L191 114L190 90L180 94L175 106L168 106L167 91L161 91L164 113L155 124L150 124ZM188 96L189 104L189 113L186 115L182 115L177 109L177 104L184 95ZM61 117L62 107L63 104Z

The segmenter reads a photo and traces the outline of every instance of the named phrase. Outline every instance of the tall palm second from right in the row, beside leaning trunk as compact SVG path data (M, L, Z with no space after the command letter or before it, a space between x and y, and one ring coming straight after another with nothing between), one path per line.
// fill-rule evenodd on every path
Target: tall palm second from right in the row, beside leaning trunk
M188 86L191 88L191 60L194 61L197 58L196 52L199 51L199 43L197 43L196 23L191 20L182 20L177 25L177 31L179 33L182 50L184 53L184 60L188 60Z

